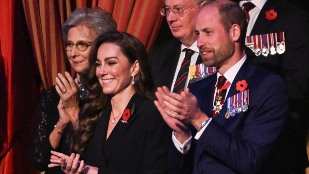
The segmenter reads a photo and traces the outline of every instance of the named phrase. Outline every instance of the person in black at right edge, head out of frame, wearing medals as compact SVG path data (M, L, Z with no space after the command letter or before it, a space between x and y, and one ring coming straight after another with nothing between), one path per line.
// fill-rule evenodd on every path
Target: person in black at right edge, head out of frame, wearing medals
M275 172L304 173L304 168L309 167L306 151L309 123L309 15L286 0L243 0L237 3L247 17L246 35L258 36L257 41L260 41L259 49L246 47L247 57L283 77L288 86L290 113L280 140L281 146L277 149Z

